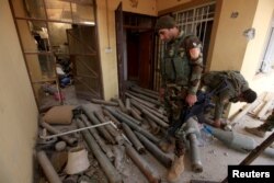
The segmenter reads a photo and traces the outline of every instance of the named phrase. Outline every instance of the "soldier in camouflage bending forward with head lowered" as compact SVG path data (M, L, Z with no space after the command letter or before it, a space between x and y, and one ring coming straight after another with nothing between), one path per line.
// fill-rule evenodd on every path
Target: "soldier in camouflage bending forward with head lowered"
M224 85L224 82L225 85ZM215 93L215 114L214 126L220 127L220 118L224 108L230 102L248 102L252 103L256 99L256 93L249 88L248 81L239 71L210 71L202 77L202 85L208 87L208 90L218 89ZM222 85L222 88L220 88Z

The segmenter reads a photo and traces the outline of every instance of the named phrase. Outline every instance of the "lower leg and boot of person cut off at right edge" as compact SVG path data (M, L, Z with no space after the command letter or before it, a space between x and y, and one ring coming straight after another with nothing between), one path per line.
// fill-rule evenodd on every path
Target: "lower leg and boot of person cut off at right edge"
M266 118L266 121L258 126L258 127L247 127L246 126L246 130L248 133L251 133L253 135L256 135L258 137L265 137L266 131L272 131L272 129L274 128L274 110L272 111L272 114ZM273 146L274 144L272 144Z

